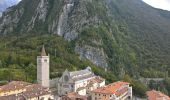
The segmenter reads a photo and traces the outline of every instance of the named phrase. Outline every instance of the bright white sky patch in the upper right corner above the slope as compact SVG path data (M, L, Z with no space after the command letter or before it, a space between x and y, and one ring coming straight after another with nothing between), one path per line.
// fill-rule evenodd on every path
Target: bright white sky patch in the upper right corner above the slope
M170 11L170 0L143 0L152 7Z

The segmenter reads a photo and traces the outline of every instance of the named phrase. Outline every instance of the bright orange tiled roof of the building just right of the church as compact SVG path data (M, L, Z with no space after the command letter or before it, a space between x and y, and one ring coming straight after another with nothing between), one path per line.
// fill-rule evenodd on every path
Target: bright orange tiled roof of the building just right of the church
M92 92L94 93L103 93L103 94L116 94L116 95L120 95L120 93L124 92L123 89L121 89L120 91L117 91L119 90L122 86L124 85L129 85L129 83L127 82L123 82L123 81L118 81L118 82L115 82L115 83L112 83L112 84L109 84L105 87L101 87L101 88L98 88Z

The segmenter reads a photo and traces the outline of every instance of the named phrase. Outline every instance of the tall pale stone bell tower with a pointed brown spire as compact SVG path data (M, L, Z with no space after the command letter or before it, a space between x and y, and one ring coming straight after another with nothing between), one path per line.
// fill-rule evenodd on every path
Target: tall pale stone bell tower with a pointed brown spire
M46 54L44 45L41 55L37 57L37 82L49 88L49 55Z

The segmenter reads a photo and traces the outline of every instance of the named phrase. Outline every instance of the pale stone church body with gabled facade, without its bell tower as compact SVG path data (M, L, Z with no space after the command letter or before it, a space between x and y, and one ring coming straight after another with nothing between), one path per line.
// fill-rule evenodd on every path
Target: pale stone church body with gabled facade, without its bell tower
M92 83L92 80L100 80L100 82ZM96 76L90 67L74 72L66 70L58 81L58 94L65 95L69 92L76 92L79 95L86 95L88 91L102 86L105 86L105 80Z

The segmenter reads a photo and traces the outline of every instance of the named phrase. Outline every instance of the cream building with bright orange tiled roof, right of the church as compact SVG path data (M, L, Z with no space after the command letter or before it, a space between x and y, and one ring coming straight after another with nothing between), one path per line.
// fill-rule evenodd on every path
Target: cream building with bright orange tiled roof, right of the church
M132 100L132 87L127 82L115 82L91 92L92 100Z

